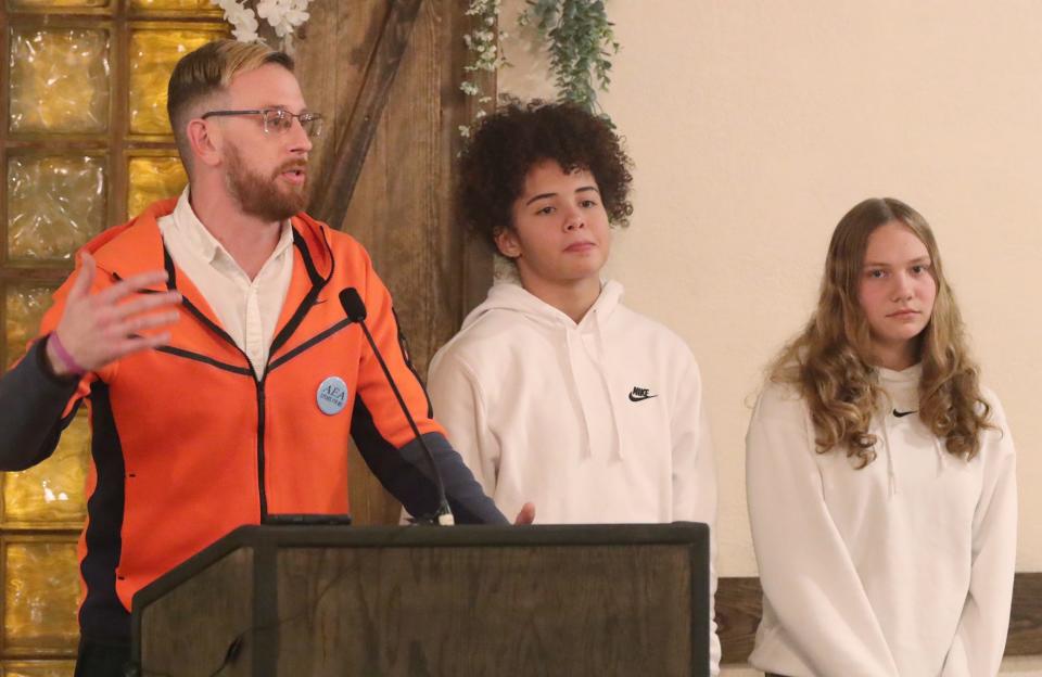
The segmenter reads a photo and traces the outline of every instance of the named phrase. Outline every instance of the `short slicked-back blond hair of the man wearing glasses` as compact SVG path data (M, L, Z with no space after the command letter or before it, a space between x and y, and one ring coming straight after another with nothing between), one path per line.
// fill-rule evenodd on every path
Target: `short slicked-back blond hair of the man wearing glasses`
M191 149L186 133L188 123L202 114L199 110L214 94L224 92L240 73L249 73L274 63L293 72L293 58L262 42L214 40L177 62L166 93L166 112L185 169L191 174Z

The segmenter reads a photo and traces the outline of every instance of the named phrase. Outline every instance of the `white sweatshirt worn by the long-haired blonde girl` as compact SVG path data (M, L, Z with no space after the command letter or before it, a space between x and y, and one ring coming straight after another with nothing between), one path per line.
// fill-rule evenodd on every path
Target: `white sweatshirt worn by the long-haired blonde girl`
M790 677L992 677L1017 536L1002 407L986 393L997 430L966 461L914 413L920 368L878 372L889 399L863 470L814 450L792 388L771 384L757 403L746 472L764 609L749 661Z

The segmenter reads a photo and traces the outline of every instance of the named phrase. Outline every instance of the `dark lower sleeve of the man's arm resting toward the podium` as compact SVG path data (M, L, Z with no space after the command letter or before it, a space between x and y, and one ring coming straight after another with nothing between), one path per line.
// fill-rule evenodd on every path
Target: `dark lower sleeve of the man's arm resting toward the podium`
M380 484L402 501L409 514L431 514L437 509L437 484L422 446L414 439L394 448L377 431L369 409L361 398L355 399L352 436L366 464ZM510 522L485 496L463 459L440 433L423 435L445 484L445 497L459 524L509 524Z

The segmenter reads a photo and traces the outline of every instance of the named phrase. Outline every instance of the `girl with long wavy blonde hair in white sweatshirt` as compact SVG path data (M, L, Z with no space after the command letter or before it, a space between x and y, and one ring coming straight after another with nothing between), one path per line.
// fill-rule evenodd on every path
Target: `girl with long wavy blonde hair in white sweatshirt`
M763 585L750 662L789 677L995 675L1016 555L1013 440L926 220L866 200L746 438Z

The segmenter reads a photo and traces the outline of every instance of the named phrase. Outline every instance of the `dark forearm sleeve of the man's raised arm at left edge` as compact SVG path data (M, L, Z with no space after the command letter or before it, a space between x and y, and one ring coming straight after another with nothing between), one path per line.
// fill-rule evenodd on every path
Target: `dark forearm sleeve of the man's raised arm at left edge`
M40 338L0 378L0 470L25 470L54 452L73 414L62 419L78 380L50 373ZM75 411L74 411L75 413Z

